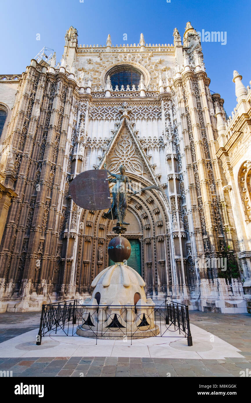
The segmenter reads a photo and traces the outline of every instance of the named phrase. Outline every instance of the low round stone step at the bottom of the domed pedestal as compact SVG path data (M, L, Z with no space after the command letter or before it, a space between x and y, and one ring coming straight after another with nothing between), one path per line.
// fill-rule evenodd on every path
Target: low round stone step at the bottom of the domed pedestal
M77 327L77 332L81 337L88 337L89 339L106 339L106 340L124 340L127 336L127 339L131 339L131 332L121 332L120 330L107 330L104 329L103 332L96 332L95 330L85 330L80 326ZM132 332L133 340L135 339L145 339L147 337L154 337L160 333L159 326L154 326L152 329L148 330L137 330L136 332ZM97 336L96 336L97 334Z

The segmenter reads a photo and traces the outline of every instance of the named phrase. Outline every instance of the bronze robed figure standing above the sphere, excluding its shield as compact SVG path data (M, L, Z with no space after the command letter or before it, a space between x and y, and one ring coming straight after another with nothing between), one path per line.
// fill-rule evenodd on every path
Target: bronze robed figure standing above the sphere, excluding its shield
M106 164L104 164L104 168L106 169ZM114 179L108 179L108 181L111 183L114 183L114 186L112 188L112 206L109 209L108 213L104 213L105 218L109 218L109 220L112 220L112 218L117 218L117 222L120 225L129 225L128 222L124 221L124 218L127 214L127 206L128 206L128 200L127 200L127 187L133 192L133 189L130 184L130 179L128 176L126 176L125 173L125 167L124 165L120 165L119 167L120 174L113 174L109 170L107 172L114 177Z

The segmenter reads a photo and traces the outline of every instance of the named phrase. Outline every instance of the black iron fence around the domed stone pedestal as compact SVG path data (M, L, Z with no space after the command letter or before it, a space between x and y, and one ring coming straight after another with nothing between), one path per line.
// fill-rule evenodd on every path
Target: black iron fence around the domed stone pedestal
M106 338L111 332L112 338L128 338L132 343L132 339L144 337L147 331L146 337L184 337L187 345L192 346L188 305L170 300L153 305L95 306L77 299L42 305L36 344L41 345L45 336L77 336L83 330L87 337L96 339L96 344L97 339Z

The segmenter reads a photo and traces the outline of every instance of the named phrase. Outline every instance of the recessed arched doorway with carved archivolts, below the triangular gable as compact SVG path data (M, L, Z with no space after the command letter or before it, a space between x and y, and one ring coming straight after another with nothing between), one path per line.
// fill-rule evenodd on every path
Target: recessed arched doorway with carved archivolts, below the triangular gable
M107 253L108 244L114 237L114 223L104 218L103 211L84 210L80 220L76 285L82 294L90 293L95 276L114 264ZM123 236L132 248L127 264L145 280L147 295L166 292L172 284L168 216L158 193L144 191L137 199L130 198L127 222L130 225Z

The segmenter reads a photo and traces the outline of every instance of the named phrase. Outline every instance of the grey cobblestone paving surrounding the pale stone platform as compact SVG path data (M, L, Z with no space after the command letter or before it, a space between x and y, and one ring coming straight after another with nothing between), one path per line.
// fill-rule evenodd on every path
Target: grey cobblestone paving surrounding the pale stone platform
M37 328L40 315L2 314L0 342ZM191 323L240 349L245 358L167 359L128 357L42 357L0 358L0 370L13 376L86 377L239 377L251 370L251 315L190 312ZM29 324L29 327L25 325ZM32 325L31 325L32 324Z

